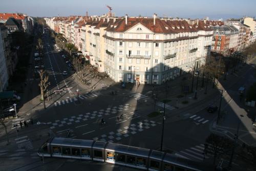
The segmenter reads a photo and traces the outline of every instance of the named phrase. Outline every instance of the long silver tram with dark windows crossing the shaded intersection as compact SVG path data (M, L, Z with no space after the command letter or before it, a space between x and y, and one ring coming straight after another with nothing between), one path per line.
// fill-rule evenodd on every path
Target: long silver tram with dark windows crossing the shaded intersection
M84 159L135 167L144 170L210 170L202 163L176 155L110 142L50 138L38 149L38 156ZM208 167L208 168L207 168Z

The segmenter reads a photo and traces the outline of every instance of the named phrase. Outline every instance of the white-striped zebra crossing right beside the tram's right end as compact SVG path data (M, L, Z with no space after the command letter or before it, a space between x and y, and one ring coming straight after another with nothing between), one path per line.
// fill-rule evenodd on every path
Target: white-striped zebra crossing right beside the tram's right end
M211 144L208 144L207 152L205 151L205 145L199 144L175 153L176 156L194 161L203 161L204 159L209 159L210 157L214 156L213 154Z

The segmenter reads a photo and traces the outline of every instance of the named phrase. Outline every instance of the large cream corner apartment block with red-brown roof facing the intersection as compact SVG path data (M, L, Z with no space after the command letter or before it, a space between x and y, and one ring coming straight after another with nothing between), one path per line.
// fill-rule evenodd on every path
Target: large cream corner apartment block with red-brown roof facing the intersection
M202 20L126 15L88 17L83 24L78 18L67 25L65 37L115 81L161 84L199 68L210 55L213 31ZM49 26L54 22L47 20Z

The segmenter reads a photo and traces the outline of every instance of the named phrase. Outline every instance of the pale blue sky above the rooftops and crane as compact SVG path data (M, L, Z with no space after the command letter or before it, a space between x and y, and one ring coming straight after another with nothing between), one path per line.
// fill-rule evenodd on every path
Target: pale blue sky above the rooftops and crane
M153 16L227 19L256 17L255 0L11 0L0 2L0 13L29 16L102 15L113 8L116 16Z

